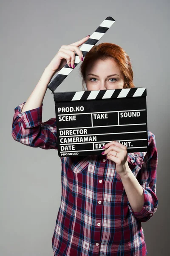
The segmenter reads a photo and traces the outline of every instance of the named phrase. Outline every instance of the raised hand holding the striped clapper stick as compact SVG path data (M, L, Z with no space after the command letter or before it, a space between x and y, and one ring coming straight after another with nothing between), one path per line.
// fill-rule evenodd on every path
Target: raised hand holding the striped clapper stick
M81 40L69 44L69 45L62 45L62 47L59 49L57 54L54 56L54 58L51 60L50 64L48 64L47 68L50 69L53 72L58 72L62 69L62 67L65 66L67 63L69 67L74 68L74 61L75 61L75 53L79 55L79 59L83 61L83 55L82 51L78 48L80 45L84 44L85 41L88 40L90 35L86 36L85 38L82 38Z

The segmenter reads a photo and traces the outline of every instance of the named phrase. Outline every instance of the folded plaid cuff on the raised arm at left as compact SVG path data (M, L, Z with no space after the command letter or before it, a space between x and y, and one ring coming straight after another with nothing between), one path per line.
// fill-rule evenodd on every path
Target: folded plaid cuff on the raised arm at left
M38 126L42 123L42 105L38 108L34 108L25 112L22 112L23 106L26 102L23 102L22 104L18 105L16 108L14 108L14 117L13 117L13 123L22 122L23 127L31 128Z

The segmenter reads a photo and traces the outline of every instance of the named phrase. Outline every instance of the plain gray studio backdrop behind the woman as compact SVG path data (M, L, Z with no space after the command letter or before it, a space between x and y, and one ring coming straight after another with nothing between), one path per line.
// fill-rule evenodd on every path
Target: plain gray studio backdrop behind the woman
M130 56L136 87L147 87L148 129L158 149L158 209L142 223L148 256L169 253L169 10L167 0L1 0L0 255L52 256L51 239L61 198L56 150L31 148L11 136L14 108L28 99L63 44L91 35L102 21L116 22L99 40ZM82 90L79 67L58 91ZM48 89L42 122L55 117Z

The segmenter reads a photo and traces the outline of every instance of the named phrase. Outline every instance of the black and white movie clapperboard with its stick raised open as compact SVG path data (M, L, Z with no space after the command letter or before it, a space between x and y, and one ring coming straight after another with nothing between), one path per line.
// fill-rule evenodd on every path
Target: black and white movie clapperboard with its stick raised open
M107 17L80 47L83 56L114 23ZM75 58L75 67L80 61ZM67 64L48 88L54 95L59 157L101 154L102 146L116 140L127 152L147 151L146 87L56 92L73 69Z

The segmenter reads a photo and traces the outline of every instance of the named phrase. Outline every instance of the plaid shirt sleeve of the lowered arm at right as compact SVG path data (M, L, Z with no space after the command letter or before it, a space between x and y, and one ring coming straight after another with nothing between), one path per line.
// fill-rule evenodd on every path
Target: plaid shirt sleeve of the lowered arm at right
M130 212L141 222L148 221L156 212L158 207L158 198L156 196L156 168L158 164L158 153L156 149L155 135L151 132L149 134L148 151L144 156L142 168L137 175L137 180L142 186L144 193L144 205L140 212L134 212L130 203L127 202Z

